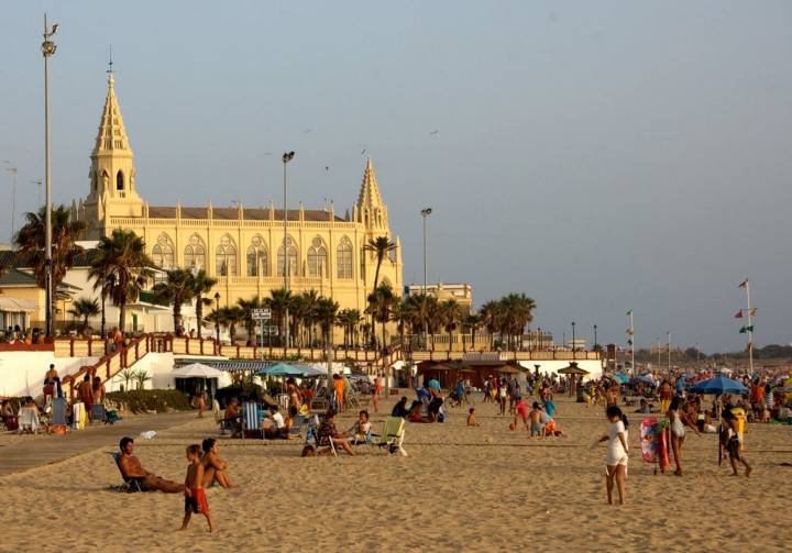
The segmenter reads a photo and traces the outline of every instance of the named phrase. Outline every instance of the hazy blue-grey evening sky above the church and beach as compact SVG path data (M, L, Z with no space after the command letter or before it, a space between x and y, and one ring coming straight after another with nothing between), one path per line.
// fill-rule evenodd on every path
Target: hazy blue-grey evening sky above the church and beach
M43 13L53 195L88 193L116 88L152 204L356 199L374 163L404 279L517 291L532 328L637 346L792 342L792 3L9 1L0 9L0 162L16 221L43 162ZM365 152L363 152L365 151ZM326 169L328 167L328 169ZM0 240L11 175L0 175Z

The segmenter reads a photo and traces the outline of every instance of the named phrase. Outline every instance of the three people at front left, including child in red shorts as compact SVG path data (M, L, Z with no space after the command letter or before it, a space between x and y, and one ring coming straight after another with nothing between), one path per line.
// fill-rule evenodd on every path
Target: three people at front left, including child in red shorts
M119 442L118 466L127 483L135 483L142 490L158 490L166 494L184 494L185 515L182 530L187 528L193 515L202 515L209 524L209 531L216 530L206 499L206 489L210 486L233 487L228 476L229 464L220 456L220 445L213 438L207 438L199 444L187 446L187 475L184 484L169 480L143 468L134 454L135 443L130 436Z

